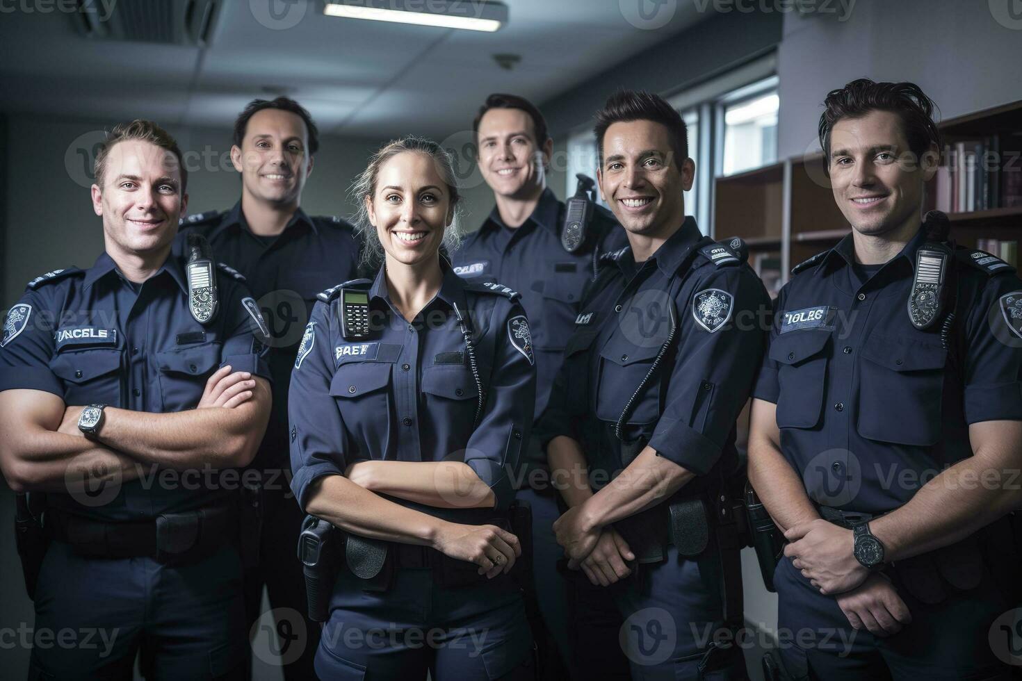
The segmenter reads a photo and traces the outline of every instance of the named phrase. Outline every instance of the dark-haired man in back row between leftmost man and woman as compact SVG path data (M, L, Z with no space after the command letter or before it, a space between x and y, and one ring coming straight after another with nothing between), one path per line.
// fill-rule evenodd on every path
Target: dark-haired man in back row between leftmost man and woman
M257 536L258 563L245 571L245 611L251 627L260 619L263 585L277 618L277 627L306 636L293 645L301 654L282 654L287 679L313 675L319 627L290 622L306 617L301 571L292 551L301 526L287 476L287 391L301 332L316 294L355 277L359 247L355 231L336 217L310 217L301 210L301 190L313 169L319 147L316 124L309 112L287 97L248 103L234 124L231 161L241 174L241 200L228 211L211 211L182 221L183 235L198 233L213 245L217 257L240 272L252 288L270 329L268 360L274 384L273 410L256 460L246 471L261 472L262 530ZM179 245L184 244L182 236Z

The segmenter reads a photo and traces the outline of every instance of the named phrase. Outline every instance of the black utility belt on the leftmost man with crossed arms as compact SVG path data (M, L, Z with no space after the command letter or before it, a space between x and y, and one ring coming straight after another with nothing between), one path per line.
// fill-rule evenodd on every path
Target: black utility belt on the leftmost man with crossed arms
M110 523L68 513L46 512L46 529L79 555L91 558L147 556L165 565L186 565L208 557L227 542L238 542L241 512L231 499L217 505L152 520Z

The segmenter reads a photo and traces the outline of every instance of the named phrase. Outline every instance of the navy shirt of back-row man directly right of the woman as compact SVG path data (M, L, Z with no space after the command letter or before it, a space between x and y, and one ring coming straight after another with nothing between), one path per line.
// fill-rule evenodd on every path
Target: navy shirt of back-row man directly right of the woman
M561 245L565 205L549 189L532 214L510 229L495 207L478 232L454 253L455 273L475 282L500 282L521 293L536 347L536 414L547 406L564 344L574 327L586 283L600 253L628 245L613 213L596 206L589 238L593 245L569 253ZM535 461L545 466L545 461Z

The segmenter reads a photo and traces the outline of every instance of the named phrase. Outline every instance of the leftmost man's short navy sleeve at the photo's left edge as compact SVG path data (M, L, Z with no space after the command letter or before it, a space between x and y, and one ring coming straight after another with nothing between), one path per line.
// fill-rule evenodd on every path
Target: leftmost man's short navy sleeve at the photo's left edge
M53 315L37 291L26 291L7 310L0 346L0 392L43 390L63 399L60 380L50 369Z

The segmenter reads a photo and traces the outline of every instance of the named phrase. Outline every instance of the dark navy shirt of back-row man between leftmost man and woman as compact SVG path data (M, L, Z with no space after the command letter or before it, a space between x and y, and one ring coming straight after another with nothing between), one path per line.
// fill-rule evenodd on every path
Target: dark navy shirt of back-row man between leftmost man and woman
M241 202L226 212L205 212L181 221L181 232L197 232L217 260L237 270L270 327L268 360L273 373L273 406L252 466L287 466L287 390L294 354L316 294L356 277L359 241L355 228L337 217L310 217L300 208L277 237L251 233ZM181 248L186 237L178 237ZM183 252L183 251L182 251Z

